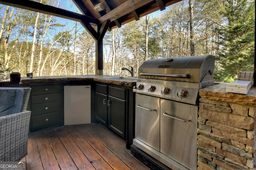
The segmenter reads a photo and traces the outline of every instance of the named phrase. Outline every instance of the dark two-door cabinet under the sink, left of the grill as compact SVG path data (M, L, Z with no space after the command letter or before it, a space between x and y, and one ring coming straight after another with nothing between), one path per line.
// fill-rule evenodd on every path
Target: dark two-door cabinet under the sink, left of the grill
M128 91L121 85L95 85L96 120L122 138L127 138Z

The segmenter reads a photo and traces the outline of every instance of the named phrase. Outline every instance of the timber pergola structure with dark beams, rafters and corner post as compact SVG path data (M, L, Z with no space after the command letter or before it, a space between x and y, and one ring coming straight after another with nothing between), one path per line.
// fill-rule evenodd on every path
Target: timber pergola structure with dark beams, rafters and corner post
M73 0L82 14L63 10L32 0L0 0L0 4L50 14L69 20L78 21L96 41L96 71L103 73L103 38L106 31L120 28L132 20L164 10L181 0ZM256 58L254 57L254 79L256 80ZM255 82L255 81L254 81ZM254 83L256 85L256 83Z

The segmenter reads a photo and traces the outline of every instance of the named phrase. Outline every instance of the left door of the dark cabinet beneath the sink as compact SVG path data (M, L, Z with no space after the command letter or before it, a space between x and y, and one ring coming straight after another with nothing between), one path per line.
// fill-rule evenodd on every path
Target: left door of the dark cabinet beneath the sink
M108 105L107 95L95 92L95 116L97 121L107 127Z

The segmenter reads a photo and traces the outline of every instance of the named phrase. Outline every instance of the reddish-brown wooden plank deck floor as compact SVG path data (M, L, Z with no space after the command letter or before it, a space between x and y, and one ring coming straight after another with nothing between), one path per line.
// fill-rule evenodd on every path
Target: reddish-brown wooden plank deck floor
M63 126L31 132L28 170L148 170L126 143L100 124Z

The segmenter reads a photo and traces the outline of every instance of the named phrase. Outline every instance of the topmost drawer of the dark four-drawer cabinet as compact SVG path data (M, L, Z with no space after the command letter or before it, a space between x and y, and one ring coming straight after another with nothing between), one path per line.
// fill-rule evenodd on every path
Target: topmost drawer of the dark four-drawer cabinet
M60 85L39 85L32 87L31 95L42 95L48 93L58 93Z

